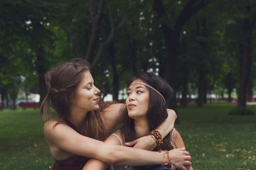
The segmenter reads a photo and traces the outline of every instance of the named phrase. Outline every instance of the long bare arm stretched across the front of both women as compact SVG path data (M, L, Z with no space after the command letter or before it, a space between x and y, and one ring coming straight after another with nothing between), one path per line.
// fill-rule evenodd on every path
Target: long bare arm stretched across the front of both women
M53 128L54 124L53 121L48 121L43 127L44 135L52 153L53 149L58 149L70 154L90 157L114 165L139 166L164 163L162 153L107 145L104 142L80 135L68 125L58 124ZM171 159L174 159L174 154L176 157L182 158L182 162L189 162L187 160L191 159L188 152L181 149L173 149L169 151L169 154Z

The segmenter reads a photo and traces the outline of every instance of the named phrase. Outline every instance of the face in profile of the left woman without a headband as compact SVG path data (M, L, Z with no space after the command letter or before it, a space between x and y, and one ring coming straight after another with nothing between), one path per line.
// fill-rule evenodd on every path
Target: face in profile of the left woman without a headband
M96 111L99 109L99 94L100 90L94 85L92 74L85 72L75 92L73 108L76 111Z

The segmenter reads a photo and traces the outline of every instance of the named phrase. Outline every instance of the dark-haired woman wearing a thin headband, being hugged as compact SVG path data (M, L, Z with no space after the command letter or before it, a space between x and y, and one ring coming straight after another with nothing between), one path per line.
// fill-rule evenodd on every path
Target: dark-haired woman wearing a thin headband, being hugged
M174 148L183 148L184 143L177 130L172 130L169 135L162 140L161 134L154 130L166 120L166 100L173 95L171 86L151 73L141 73L132 77L127 82L127 100L126 107L123 109L124 126L110 135L105 142L111 145L124 145L129 142L151 135L155 140L157 147L155 151L166 153L163 166L136 166L134 169L189 169L192 170L190 162L185 166L179 164L173 158L169 157L168 150ZM93 167L95 170L105 169L107 164L98 160L91 159L85 165L83 170Z

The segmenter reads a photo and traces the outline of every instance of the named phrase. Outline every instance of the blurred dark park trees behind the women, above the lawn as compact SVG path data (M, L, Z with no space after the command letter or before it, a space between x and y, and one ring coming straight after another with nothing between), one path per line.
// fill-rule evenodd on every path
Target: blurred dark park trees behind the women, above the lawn
M125 82L154 72L175 89L177 111L196 102L255 101L253 0L0 2L1 109L41 103L44 73L81 57L105 101Z

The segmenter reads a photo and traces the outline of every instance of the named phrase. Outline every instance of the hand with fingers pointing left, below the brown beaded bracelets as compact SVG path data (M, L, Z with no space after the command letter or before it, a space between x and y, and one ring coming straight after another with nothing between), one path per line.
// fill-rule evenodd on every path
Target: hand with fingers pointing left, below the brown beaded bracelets
M126 146L132 147L134 145L135 148L153 150L156 147L156 142L150 135L139 137L139 139L134 140L132 142L125 143Z

